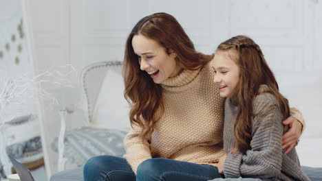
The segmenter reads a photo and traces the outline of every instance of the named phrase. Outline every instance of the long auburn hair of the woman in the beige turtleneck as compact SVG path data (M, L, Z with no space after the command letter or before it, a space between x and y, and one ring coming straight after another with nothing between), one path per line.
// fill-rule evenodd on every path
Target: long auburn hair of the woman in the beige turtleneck
M196 70L203 67L213 59L195 51L190 38L178 21L167 13L155 13L146 16L133 27L127 38L125 56L123 61L123 78L125 81L125 99L129 102L129 119L131 125L139 125L142 128L140 136L148 141L153 132L153 126L158 117L157 111L163 114L162 87L155 84L145 71L140 70L138 56L133 51L133 36L142 35L155 40L169 54L176 53L176 62L182 69Z

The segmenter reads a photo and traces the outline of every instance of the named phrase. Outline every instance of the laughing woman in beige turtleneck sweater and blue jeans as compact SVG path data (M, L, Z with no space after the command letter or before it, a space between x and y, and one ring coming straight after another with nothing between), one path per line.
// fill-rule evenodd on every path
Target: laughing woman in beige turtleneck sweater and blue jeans
M85 180L222 178L217 162L224 154L224 99L215 91L212 58L195 51L173 16L156 13L140 20L127 38L123 66L133 127L125 138L126 159L91 158ZM293 116L301 119L299 112ZM300 134L301 123L288 121ZM297 134L290 133L287 144L294 145Z

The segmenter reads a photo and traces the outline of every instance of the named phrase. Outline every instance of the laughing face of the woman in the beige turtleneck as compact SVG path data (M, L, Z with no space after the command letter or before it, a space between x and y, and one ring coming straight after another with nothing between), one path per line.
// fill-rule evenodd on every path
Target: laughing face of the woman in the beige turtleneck
M146 71L155 84L162 84L180 73L175 52L170 50L168 54L155 40L138 34L132 38L132 47L138 56L140 69Z

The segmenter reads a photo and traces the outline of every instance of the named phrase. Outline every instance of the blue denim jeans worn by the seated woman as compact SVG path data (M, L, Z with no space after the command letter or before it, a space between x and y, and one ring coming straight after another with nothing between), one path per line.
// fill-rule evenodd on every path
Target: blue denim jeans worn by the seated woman
M135 174L127 160L116 156L96 156L84 166L85 181L205 181L222 178L217 167L152 158L142 162Z

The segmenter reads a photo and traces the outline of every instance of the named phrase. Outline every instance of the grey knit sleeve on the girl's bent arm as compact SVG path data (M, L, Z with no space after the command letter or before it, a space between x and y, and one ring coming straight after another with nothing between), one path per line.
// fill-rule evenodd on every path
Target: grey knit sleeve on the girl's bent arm
M283 117L277 106L268 107L264 114L253 119L251 148L245 154L228 153L224 162L226 178L271 178L281 171Z

